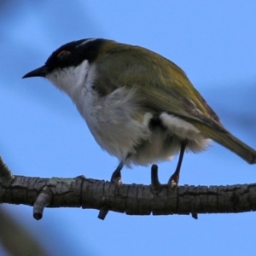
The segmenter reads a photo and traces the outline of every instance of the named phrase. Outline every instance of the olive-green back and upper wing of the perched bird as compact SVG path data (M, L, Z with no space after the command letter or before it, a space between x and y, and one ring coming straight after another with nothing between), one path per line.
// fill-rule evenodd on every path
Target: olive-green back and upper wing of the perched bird
M108 43L108 48L108 54L97 62L101 78L98 90L102 95L118 87L132 87L144 94L145 103L149 103L149 108L155 107L157 112L192 118L194 109L198 109L219 122L217 114L172 61L142 47L112 42Z

